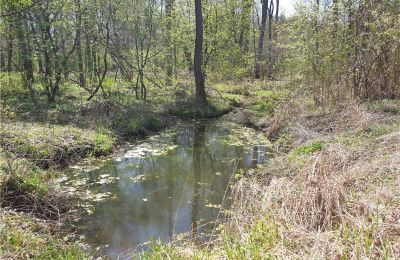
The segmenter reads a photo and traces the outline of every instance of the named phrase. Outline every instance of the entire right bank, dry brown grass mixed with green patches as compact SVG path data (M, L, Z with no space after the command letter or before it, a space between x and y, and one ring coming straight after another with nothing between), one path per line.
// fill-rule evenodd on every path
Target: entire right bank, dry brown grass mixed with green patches
M234 205L206 245L153 245L158 259L400 257L399 101L275 107L275 157L234 187Z

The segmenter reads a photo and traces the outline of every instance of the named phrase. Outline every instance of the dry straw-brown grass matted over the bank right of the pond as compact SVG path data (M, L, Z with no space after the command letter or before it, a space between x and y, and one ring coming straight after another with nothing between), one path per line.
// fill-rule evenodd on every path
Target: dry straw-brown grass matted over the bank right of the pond
M296 131L301 139L297 141L321 139L318 134L324 133L328 144L294 168L284 156L273 160L265 171L268 181L260 181L259 176L240 181L232 230L246 244L249 227L262 219L276 223L281 239L266 252L268 256L399 258L400 131L362 140L364 145L357 149L338 143L335 137L343 132L368 132L399 118L353 106L329 118L308 120ZM286 174L280 174L283 171ZM293 171L297 173L290 177Z

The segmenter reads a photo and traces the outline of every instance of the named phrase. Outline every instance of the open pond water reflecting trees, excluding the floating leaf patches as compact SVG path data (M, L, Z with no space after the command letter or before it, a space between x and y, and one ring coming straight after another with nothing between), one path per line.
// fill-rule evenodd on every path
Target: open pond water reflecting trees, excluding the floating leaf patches
M206 204L221 204L234 170L254 167L265 157L265 147L226 144L226 132L218 125L197 123L171 136L179 147L168 155L131 158L109 167L109 173L120 180L107 187L119 199L96 209L96 223L89 227L96 239L115 248L150 236L168 239L190 228L197 237L211 231L213 225L205 224L215 220L220 209ZM104 168L98 174L104 174ZM145 181L132 180L142 174Z

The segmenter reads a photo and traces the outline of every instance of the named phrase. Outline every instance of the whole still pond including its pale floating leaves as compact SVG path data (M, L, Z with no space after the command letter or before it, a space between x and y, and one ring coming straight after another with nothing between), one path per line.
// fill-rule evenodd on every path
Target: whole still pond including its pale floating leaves
M80 232L112 258L183 232L206 239L229 203L229 183L265 163L267 151L252 129L197 122L134 143L96 167L75 167L67 184L87 197Z

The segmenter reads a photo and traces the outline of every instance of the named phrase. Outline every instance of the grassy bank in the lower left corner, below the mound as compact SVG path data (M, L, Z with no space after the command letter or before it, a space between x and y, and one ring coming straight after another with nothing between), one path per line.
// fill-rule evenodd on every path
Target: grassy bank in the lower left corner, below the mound
M69 222L74 196L52 181L58 173L2 150L0 156L0 258L83 259Z

